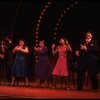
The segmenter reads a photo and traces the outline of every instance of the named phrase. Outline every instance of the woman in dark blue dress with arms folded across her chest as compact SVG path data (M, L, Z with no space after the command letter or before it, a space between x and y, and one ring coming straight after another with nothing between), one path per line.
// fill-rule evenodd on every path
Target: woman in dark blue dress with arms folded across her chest
M25 85L28 86L28 61L27 61L27 54L29 50L28 47L25 45L23 40L19 41L19 45L17 45L13 49L13 53L15 54L15 60L12 67L12 81L11 85L15 84L15 78L25 78Z

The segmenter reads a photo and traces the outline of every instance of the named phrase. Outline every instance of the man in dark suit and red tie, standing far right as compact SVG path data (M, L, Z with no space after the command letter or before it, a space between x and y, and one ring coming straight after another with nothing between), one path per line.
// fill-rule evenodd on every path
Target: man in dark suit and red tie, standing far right
M87 32L85 41L80 44L80 49L76 51L78 57L77 66L77 90L82 90L85 72L88 71L92 83L92 89L98 89L98 80L96 73L96 41L92 39L92 33Z

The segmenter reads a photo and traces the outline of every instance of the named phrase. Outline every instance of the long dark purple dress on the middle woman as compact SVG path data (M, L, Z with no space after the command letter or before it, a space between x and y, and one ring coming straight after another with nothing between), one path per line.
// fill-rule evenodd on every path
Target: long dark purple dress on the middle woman
M38 62L35 66L35 78L39 80L48 80L49 78L49 59L47 55L47 47L45 46L38 53Z

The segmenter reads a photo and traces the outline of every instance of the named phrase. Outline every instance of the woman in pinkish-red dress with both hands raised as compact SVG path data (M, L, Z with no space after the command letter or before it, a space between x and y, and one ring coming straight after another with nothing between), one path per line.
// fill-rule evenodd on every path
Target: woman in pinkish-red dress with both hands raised
M52 54L54 55L55 53L59 53L59 57L57 60L57 63L55 65L55 68L52 72L54 75L54 86L53 88L56 87L56 77L61 76L65 77L68 79L69 73L68 73L68 62L67 62L67 52L70 51L72 52L72 48L69 45L68 41L65 38L60 38L59 41L60 45L55 48L55 44L52 45Z

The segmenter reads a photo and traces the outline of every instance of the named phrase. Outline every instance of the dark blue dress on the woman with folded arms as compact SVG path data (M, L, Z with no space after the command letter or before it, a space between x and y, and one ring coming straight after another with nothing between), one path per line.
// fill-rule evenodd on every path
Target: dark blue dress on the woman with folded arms
M26 77L28 74L27 65L27 54L17 51L12 67L12 76Z

